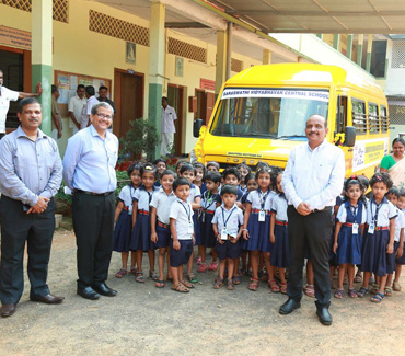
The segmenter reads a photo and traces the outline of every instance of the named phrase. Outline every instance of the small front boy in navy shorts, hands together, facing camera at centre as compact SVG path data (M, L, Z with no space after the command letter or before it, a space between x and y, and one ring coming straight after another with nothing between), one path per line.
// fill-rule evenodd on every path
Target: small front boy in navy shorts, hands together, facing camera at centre
M219 259L219 276L213 288L224 285L224 269L228 261L228 289L233 287L234 260L241 255L241 244L238 242L242 234L243 214L236 206L238 186L225 184L221 190L222 204L216 209L212 218L212 229L217 237L216 251Z

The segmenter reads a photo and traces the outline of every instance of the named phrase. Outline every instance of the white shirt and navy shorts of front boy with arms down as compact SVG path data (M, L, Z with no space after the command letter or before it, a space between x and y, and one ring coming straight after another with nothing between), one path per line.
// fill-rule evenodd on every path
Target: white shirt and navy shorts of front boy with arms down
M176 233L180 242L180 250L173 249L173 237L170 240L170 265L172 267L178 267L183 264L187 264L193 252L193 208L187 202L183 202L178 198L172 204L170 210L170 219L176 220Z

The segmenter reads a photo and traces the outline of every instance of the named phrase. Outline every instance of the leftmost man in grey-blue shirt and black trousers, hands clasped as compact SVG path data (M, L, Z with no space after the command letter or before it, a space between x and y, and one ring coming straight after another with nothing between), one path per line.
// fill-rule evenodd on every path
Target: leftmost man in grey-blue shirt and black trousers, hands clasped
M58 146L39 125L42 107L34 97L19 103L21 125L0 141L2 318L15 311L24 289L23 259L28 252L30 299L60 303L49 292L46 279L55 231L55 202L62 180Z

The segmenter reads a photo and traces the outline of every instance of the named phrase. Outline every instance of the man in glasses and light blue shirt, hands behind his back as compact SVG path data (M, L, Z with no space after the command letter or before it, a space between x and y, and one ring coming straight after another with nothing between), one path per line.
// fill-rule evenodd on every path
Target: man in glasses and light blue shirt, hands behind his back
M65 183L73 192L78 295L92 300L117 294L105 284L113 251L117 186L118 139L107 130L113 116L107 103L92 106L91 125L68 140L63 158Z

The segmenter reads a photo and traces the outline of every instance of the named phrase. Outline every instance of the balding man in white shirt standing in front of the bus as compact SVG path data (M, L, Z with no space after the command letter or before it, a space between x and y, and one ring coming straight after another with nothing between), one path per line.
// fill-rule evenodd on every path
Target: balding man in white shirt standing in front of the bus
M345 157L338 147L325 140L326 119L312 115L305 126L308 142L296 146L282 175L282 188L288 199L288 233L290 273L288 300L280 314L300 308L302 268L306 249L315 274L316 315L324 325L332 324L329 241L332 208L340 194L345 177Z

